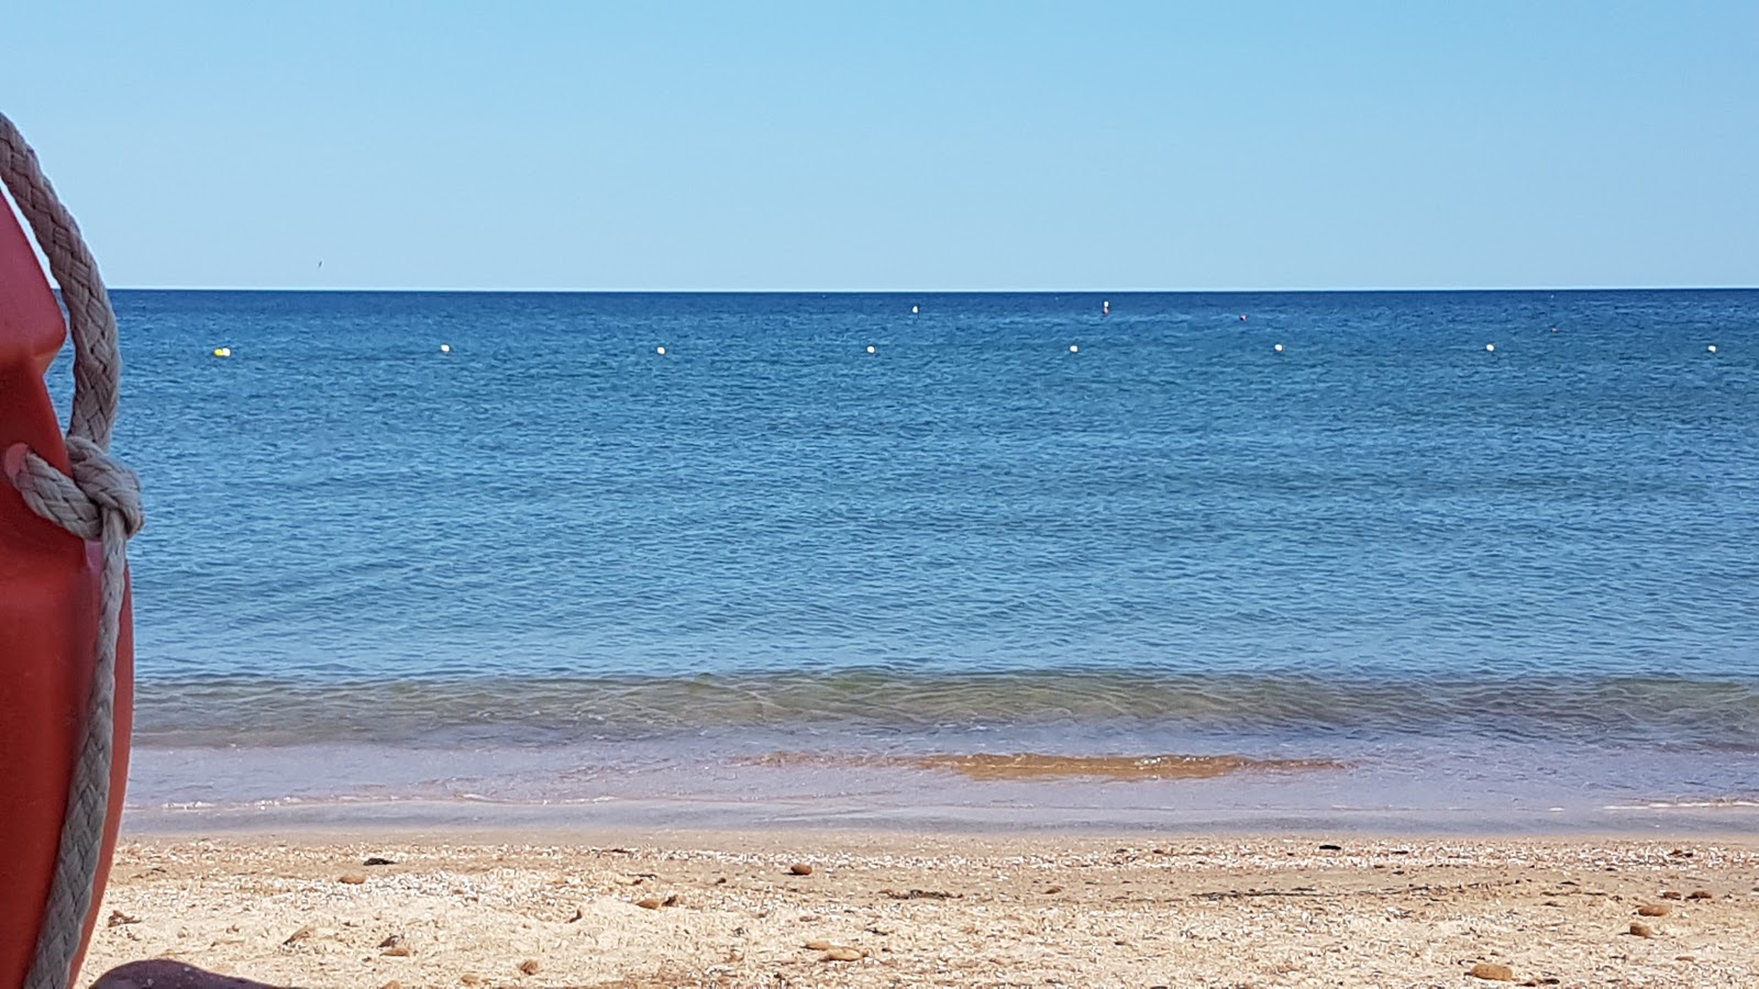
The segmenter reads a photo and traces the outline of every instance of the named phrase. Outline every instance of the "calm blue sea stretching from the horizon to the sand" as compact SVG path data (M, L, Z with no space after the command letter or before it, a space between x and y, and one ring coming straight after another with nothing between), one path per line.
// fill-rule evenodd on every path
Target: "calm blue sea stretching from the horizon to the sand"
M1759 290L114 304L132 827L1759 827Z

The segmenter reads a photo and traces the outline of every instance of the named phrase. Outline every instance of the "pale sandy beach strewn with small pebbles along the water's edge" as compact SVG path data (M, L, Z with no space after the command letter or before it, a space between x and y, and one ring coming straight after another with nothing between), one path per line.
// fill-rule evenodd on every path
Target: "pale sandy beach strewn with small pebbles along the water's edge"
M1759 839L125 838L84 980L150 957L313 987L1752 987Z

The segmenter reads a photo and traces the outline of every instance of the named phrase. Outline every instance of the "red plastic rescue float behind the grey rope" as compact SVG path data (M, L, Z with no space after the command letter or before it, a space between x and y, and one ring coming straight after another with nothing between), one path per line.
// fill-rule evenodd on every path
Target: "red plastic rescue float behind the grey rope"
M0 456L25 443L67 472L67 447L44 384L67 324L30 241L0 201ZM37 947L60 846L67 790L91 690L104 558L37 517L0 477L0 985L21 985ZM86 940L116 846L134 722L128 600L116 642L116 736L104 866ZM74 963L77 977L79 963Z

